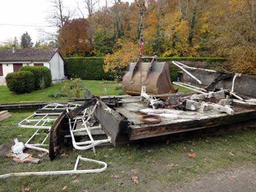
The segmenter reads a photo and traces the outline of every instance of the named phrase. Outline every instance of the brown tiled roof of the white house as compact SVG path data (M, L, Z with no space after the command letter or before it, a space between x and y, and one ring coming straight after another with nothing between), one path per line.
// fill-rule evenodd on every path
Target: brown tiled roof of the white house
M0 50L0 61L49 61L57 49Z

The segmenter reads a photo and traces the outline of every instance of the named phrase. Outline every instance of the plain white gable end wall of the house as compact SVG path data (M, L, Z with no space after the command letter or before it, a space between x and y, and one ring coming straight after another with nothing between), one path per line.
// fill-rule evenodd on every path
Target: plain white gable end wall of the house
M49 61L52 74L52 81L58 82L64 80L64 61L58 52Z

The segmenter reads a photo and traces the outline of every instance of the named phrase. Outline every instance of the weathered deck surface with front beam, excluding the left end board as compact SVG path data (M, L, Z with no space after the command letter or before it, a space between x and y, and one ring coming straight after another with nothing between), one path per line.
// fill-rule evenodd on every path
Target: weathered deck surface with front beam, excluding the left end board
M159 124L144 124L139 120L139 114L130 112L147 108L146 103L139 102L138 99L122 99L124 104L121 107L115 107L117 111L132 122L128 128L129 140L144 139L172 133L199 130L208 127L216 127L225 124L244 122L256 119L256 109L246 108L246 106L234 106L234 115L226 113L207 111L205 113L190 112L191 119L164 119ZM137 101L136 101L137 100ZM135 103L136 102L136 103ZM126 104L127 103L127 104ZM189 112L184 112L184 115Z

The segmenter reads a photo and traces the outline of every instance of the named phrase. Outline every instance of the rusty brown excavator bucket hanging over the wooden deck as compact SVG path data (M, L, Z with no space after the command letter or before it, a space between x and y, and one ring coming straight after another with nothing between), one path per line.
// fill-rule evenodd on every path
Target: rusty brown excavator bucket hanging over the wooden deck
M143 62L152 59L151 62ZM131 62L123 76L123 90L129 95L141 95L142 86L146 86L148 94L176 93L170 78L168 62L158 62L157 56L141 57L137 62Z

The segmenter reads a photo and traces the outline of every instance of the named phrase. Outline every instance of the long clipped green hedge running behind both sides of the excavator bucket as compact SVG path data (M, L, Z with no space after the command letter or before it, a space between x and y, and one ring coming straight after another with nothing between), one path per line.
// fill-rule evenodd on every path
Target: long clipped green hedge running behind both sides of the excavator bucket
M159 62L163 61L205 61L224 62L224 58L211 57L158 57ZM103 70L104 57L69 57L65 58L65 76L68 78L82 78L82 80L114 80L112 73L105 73ZM176 81L179 68L170 65L171 80Z

